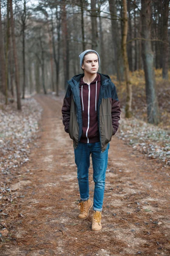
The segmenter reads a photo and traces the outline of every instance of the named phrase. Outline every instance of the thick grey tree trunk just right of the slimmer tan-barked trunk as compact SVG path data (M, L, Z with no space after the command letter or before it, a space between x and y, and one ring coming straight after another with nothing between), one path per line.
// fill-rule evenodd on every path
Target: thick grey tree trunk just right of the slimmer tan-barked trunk
M158 101L155 89L155 72L153 65L153 51L151 45L151 2L150 0L142 0L142 59L144 64L144 76L146 86L146 100L147 100L147 119L153 124L159 123Z

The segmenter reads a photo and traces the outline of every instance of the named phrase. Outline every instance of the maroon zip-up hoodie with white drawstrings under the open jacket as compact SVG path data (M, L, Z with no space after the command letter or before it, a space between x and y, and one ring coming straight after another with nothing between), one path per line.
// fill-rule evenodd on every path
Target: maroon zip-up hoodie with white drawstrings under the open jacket
M99 129L97 120L97 105L100 91L100 75L89 85L83 80L79 82L80 101L82 107L82 137L80 142L95 143L99 142Z

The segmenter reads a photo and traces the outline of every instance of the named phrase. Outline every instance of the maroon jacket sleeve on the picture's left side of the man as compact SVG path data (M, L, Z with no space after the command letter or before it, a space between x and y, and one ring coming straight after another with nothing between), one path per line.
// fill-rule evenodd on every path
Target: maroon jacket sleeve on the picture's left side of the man
M71 87L68 85L65 98L62 105L62 123L65 126L65 131L68 133L68 127L70 122L70 108L71 108Z

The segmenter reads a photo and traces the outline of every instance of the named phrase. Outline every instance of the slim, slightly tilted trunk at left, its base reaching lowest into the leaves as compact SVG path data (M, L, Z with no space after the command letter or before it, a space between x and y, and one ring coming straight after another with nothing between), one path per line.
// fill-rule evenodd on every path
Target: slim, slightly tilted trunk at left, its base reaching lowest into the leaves
M9 0L9 3L10 3L11 32L12 32L12 43L13 43L14 64L15 64L15 83L16 83L16 89L17 89L17 108L18 110L21 110L20 79L19 79L18 60L17 60L17 48L16 48L15 35L14 35L14 18L13 18L12 0Z

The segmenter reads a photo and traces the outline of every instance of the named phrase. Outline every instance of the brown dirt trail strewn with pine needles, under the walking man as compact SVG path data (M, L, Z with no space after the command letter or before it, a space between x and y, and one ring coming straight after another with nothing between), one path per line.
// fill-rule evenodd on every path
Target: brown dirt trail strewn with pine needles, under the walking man
M114 136L106 173L103 228L100 233L91 232L92 211L84 221L77 218L77 172L72 141L62 125L62 99L44 95L35 99L44 108L39 147L31 149L30 161L17 178L25 197L19 199L11 221L11 237L16 240L3 247L0 255L170 255L167 167ZM89 171L92 198L92 164Z

